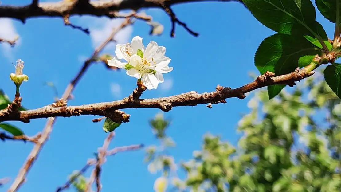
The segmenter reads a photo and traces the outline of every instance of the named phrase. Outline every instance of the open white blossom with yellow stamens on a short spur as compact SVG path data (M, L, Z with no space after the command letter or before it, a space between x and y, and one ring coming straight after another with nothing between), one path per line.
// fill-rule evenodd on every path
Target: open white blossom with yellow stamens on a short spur
M145 48L142 38L135 36L130 44L116 45L116 57L108 60L108 65L124 68L127 75L141 79L147 89L156 89L159 83L164 81L162 74L173 70L173 67L168 67L170 59L165 53L166 48L154 41ZM125 62L121 62L120 59Z

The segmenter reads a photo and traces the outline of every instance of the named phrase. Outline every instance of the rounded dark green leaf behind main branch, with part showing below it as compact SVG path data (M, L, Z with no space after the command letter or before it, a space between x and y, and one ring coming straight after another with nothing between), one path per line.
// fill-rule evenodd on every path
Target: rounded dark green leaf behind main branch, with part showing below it
M266 71L284 75L299 67L299 59L306 55L319 54L319 48L306 40L286 34L274 34L267 37L258 47L254 62L261 74ZM301 59L302 61L302 59ZM269 98L275 97L285 85L268 86Z

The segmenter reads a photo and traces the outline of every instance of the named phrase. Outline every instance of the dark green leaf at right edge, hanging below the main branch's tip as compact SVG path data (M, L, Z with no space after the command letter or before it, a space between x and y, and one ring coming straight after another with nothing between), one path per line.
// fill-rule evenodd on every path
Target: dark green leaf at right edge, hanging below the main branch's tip
M328 65L323 74L328 86L341 98L341 65Z

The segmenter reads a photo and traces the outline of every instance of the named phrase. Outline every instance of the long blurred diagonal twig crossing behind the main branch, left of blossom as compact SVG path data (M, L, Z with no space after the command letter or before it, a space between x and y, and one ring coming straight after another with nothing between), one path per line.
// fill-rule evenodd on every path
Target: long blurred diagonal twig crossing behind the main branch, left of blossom
M1 11L3 10L3 6L0 6L0 17L1 17ZM68 87L65 89L64 94L62 96L63 100L68 100L70 97L74 87L79 82L80 78L84 75L84 73L87 71L87 69L90 67L90 64L94 62L95 58L98 56L99 52L107 45L107 43L110 42L111 39L115 36L115 34L123 29L124 27L131 24L130 18L127 18L123 21L123 23L114 29L112 34L107 38L105 42L103 42L98 48L95 49L94 53L92 54L91 58L87 61L85 61L83 67L79 71L79 73L76 75L76 77L71 81L71 83L68 85ZM1 121L1 120L0 120ZM29 169L32 167L34 161L38 157L39 152L41 151L42 147L44 146L45 142L48 140L48 137L53 129L53 125L56 122L56 118L49 116L49 120L46 122L46 125L43 129L43 133L41 138L38 140L37 144L34 145L32 151L30 152L29 156L27 157L26 162L24 165L20 168L19 173L17 177L15 178L12 186L7 192L15 192L21 184L23 184L25 180L25 176L28 173Z

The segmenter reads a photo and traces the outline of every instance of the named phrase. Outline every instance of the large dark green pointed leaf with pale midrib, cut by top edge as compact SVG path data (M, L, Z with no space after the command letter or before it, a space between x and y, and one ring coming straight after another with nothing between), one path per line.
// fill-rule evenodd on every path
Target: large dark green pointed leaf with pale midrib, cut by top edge
M315 8L310 0L243 0L253 16L266 27L283 34L318 34Z

